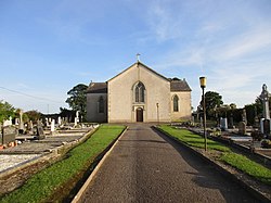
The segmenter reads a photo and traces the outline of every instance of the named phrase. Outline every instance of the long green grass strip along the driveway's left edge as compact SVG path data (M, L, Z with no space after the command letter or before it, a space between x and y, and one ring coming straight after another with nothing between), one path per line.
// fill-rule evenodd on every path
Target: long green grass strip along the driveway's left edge
M3 196L0 202L48 201L54 191L86 170L124 129L124 126L101 126L86 142L70 150L65 160L34 175L23 187Z

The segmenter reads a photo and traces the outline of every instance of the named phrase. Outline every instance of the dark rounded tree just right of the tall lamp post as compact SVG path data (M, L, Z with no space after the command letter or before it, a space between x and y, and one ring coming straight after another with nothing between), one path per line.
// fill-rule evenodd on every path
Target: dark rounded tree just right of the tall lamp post
M222 96L219 96L219 93L215 91L207 91L205 93L206 117L215 118L215 109L219 107L221 104L223 104Z

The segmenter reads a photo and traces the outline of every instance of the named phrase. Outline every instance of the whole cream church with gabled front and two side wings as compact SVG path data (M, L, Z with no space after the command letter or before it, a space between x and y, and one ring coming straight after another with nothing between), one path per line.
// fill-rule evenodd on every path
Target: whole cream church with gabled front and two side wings
M175 122L191 118L191 88L140 61L87 89L87 119L98 123Z

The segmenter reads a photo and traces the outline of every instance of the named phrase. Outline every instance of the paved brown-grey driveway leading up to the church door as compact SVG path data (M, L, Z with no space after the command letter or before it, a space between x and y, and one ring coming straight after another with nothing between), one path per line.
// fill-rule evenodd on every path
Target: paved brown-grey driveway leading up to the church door
M256 202L147 125L131 125L79 202Z

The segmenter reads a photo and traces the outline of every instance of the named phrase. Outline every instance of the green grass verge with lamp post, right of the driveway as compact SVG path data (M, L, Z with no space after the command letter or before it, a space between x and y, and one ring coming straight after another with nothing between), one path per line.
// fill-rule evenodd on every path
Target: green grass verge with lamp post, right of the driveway
M186 129L179 129L166 125L159 126L158 128L188 145L204 149L204 139L196 134ZM244 155L232 152L230 148L222 143L207 139L207 145L208 150L222 152L219 157L220 161L244 172L263 183L271 186L271 170L269 168L247 158Z

